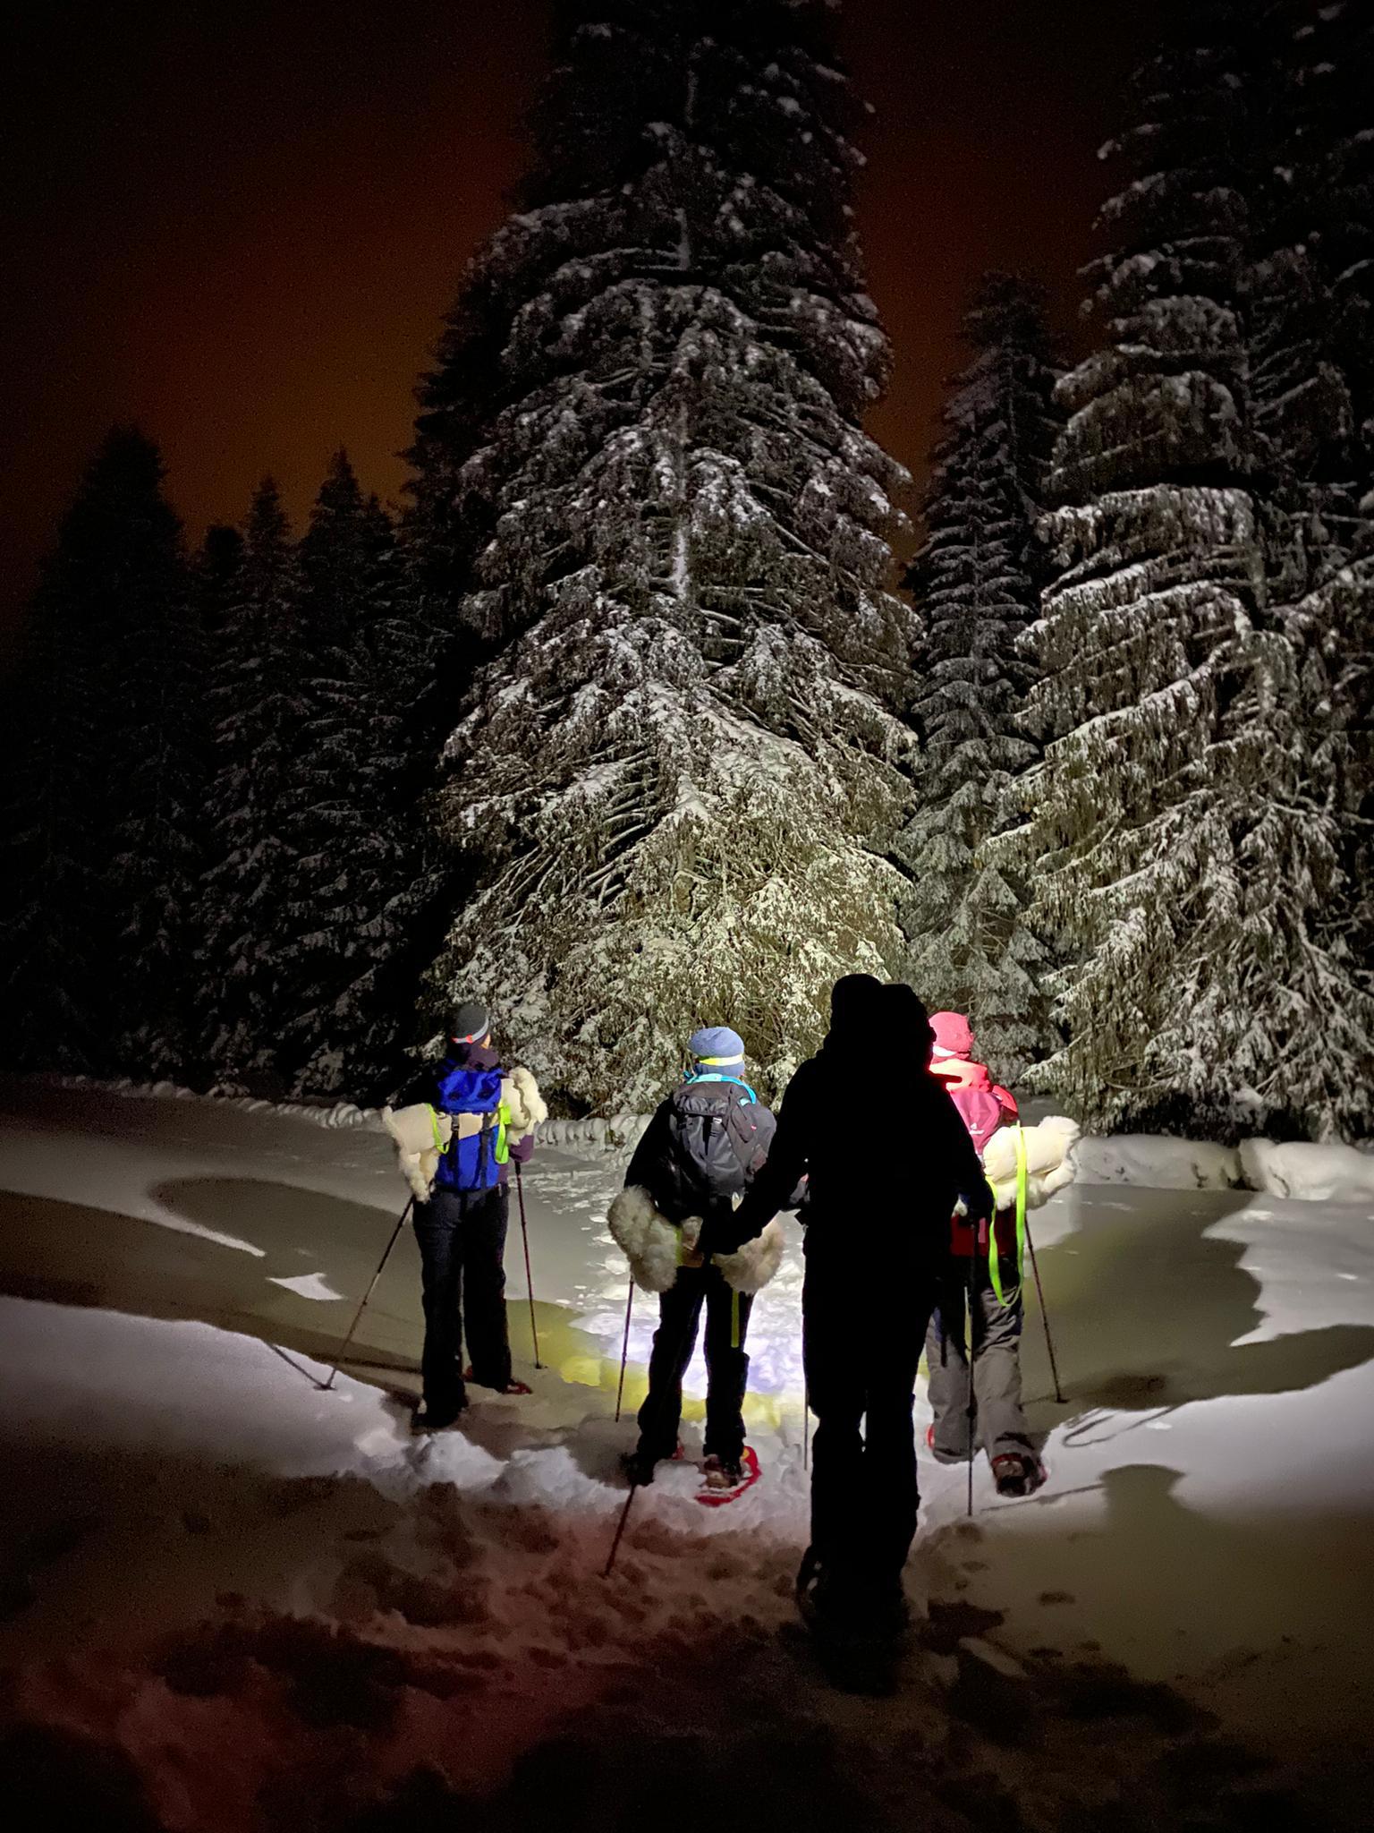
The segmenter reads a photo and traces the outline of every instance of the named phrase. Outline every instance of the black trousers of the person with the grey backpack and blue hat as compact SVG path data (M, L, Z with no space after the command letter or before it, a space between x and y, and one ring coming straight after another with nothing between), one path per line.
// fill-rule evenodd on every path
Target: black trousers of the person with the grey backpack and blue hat
M738 1314L735 1303L738 1300ZM749 1358L744 1333L753 1298L735 1292L718 1267L680 1267L676 1281L658 1300L658 1329L649 1358L649 1395L639 1408L639 1450L672 1457L682 1422L682 1377L696 1349L705 1305L705 1455L733 1465L744 1452L744 1389ZM735 1323L738 1316L738 1342Z

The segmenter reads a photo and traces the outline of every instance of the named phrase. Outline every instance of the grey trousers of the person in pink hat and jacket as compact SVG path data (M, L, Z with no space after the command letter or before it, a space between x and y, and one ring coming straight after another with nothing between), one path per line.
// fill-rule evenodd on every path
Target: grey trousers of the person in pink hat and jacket
M934 1448L945 1457L969 1455L969 1362L964 1347L967 1311L967 1263L942 1279L940 1301L925 1333L925 1360L931 1366L931 1406L934 1408ZM1035 1455L1030 1426L1020 1408L1020 1294L1002 1305L980 1265L973 1305L973 1430L975 1446L989 1457L1004 1452Z

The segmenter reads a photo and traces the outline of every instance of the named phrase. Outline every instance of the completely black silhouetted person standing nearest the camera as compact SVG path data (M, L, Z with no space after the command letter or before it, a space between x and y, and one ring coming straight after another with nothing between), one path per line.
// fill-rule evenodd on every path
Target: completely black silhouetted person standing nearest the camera
M817 1426L797 1600L817 1633L841 1641L905 1624L916 1364L954 1204L964 1197L971 1219L991 1208L967 1127L929 1074L931 1045L909 986L837 981L830 1032L791 1078L766 1168L703 1237L707 1250L751 1239L808 1179L802 1318Z

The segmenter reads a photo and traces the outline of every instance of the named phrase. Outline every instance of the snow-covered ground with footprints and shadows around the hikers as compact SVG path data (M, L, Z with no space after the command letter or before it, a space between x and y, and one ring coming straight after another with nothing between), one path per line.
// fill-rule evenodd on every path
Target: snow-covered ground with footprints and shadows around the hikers
M967 1521L962 1472L921 1463L925 1622L901 1692L872 1701L830 1692L791 1626L795 1226L751 1327L764 1481L705 1510L667 1472L605 1580L632 1441L603 1223L619 1157L535 1158L546 1369L531 1400L478 1399L423 1441L409 1230L319 1386L405 1201L385 1136L99 1089L7 1083L0 1105L0 1789L20 1824L1367 1822L1369 1201L1141 1188L1136 1146L1101 1155L1125 1182L1035 1217L1068 1395L1031 1307L1052 1481L1004 1503L980 1470ZM507 1265L528 1371L518 1232ZM628 1402L652 1322L638 1296Z

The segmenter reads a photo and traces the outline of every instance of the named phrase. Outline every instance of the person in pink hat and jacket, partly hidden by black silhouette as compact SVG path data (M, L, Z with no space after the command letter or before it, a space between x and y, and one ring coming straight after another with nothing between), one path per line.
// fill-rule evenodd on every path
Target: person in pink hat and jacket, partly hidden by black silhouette
M934 1050L931 1074L949 1091L973 1144L982 1157L998 1127L1017 1124L1015 1096L998 1087L976 1058L973 1026L960 1012L932 1012ZM982 1444L1002 1496L1031 1496L1044 1483L1030 1424L1020 1404L1020 1301L1015 1210L1000 1210L991 1224L951 1221L951 1265L925 1334L931 1369L934 1422L925 1433L940 1463L969 1457L969 1424L975 1448ZM993 1281L989 1254L997 1256ZM973 1265L969 1265L973 1259ZM1002 1292L998 1294L997 1285ZM965 1300L973 1294L973 1400L969 1422L969 1362L965 1345Z

